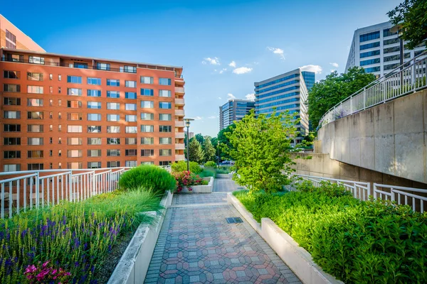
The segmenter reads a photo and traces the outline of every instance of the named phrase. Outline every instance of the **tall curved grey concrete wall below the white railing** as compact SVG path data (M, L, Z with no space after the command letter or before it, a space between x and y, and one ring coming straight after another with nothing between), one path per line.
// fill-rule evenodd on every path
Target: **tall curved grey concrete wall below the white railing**
M427 90L338 119L317 131L317 153L427 183Z

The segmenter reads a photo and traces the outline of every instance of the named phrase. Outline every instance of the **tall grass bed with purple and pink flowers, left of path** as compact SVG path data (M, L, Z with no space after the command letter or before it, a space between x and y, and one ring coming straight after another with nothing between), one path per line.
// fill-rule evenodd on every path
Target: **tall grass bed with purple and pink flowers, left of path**
M142 212L159 207L153 192L119 191L1 220L0 283L57 283L53 272L65 283L96 283L117 237L152 222Z

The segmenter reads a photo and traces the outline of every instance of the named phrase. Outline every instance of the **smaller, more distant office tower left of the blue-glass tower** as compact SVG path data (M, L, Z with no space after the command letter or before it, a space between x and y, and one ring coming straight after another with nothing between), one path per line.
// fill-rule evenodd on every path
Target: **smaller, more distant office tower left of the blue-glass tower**
M243 119L243 116L255 108L255 102L245 99L229 99L219 107L219 130Z

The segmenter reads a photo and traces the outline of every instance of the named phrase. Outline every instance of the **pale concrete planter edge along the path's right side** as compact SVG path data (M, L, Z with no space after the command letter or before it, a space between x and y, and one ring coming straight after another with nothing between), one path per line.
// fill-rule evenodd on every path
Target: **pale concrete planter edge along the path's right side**
M233 204L243 218L260 234L270 245L271 249L289 266L289 268L305 284L342 284L343 282L334 278L329 273L322 271L320 266L312 260L311 254L298 246L291 236L280 229L270 218L261 219L261 224L253 219L251 212L229 192L227 201Z

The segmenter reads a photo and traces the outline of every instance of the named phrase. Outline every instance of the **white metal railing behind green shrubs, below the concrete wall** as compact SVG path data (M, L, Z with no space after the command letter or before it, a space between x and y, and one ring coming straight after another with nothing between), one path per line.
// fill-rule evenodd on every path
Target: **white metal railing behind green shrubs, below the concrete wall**
M315 187L320 187L321 182L331 182L343 185L346 190L352 192L354 198L359 200L369 200L369 196L373 196L378 200L389 200L396 204L409 205L413 211L423 213L424 207L427 205L427 190L401 187L396 185L381 185L374 183L373 188L369 182L356 182L354 180L337 180L334 178L322 178L312 175L292 175L296 177L293 183L288 186L288 190L295 190L293 185L300 184L303 180L309 180Z

